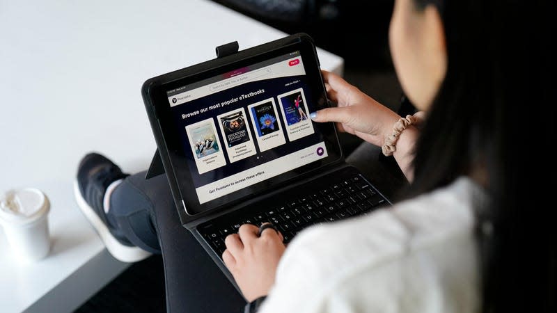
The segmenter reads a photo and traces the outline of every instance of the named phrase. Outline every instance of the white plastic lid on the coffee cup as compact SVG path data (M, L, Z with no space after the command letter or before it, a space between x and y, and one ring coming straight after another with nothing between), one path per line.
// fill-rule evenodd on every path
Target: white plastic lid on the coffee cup
M50 209L48 198L36 188L8 191L0 195L0 220L27 224L38 220Z

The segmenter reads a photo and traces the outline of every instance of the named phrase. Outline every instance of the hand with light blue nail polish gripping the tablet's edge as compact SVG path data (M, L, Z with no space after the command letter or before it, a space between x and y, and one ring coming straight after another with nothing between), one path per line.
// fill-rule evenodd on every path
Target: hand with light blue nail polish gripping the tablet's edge
M342 77L322 71L327 95L337 106L311 113L315 122L337 122L339 131L381 146L400 116L375 101Z

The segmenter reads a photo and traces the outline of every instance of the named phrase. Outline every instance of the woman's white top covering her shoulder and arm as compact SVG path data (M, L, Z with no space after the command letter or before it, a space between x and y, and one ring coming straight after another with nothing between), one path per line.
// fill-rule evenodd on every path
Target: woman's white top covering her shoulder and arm
M427 312L436 293L443 295L433 298L447 306L446 312L453 311L451 303L474 305L470 198L475 189L459 180L368 216L309 227L286 249L269 307L283 307L281 301L293 299L292 292L306 299L289 304L298 312L315 307L338 312L339 305L384 310L397 295L411 299L396 300L408 309L397 312Z

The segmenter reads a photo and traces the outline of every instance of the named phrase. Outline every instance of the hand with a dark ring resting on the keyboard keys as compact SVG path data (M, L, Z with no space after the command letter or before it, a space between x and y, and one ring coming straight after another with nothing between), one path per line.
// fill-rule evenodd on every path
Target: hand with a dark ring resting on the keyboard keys
M261 236L258 232L256 225L242 225L237 234L226 237L222 254L224 264L249 302L267 296L286 248L280 232L272 228L263 230Z

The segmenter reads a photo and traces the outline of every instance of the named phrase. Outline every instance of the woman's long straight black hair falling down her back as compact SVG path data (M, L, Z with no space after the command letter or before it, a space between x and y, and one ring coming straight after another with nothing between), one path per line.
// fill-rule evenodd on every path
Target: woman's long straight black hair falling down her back
M491 199L477 211L483 311L557 312L552 1L414 1L441 12L448 69L407 196L483 165Z

